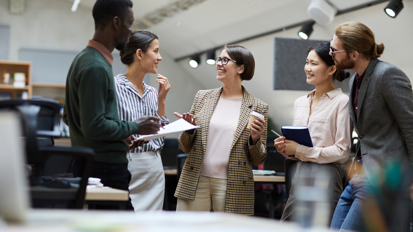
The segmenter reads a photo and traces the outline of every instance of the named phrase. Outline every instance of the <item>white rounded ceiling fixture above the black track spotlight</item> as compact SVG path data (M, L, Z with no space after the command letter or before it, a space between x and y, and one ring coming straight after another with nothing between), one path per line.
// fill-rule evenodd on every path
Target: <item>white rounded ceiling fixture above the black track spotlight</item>
M326 0L312 0L307 7L307 14L311 19L321 25L330 25L337 14L337 7Z

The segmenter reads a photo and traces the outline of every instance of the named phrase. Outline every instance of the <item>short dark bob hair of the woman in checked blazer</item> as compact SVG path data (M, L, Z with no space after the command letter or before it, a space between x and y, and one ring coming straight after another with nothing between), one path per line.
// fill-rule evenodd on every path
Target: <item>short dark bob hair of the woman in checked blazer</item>
M225 44L224 49L227 51L228 55L230 55L228 58L241 63L235 63L237 66L244 65L244 72L241 73L241 80L251 80L254 76L255 69L254 56L252 56L251 52L240 45Z

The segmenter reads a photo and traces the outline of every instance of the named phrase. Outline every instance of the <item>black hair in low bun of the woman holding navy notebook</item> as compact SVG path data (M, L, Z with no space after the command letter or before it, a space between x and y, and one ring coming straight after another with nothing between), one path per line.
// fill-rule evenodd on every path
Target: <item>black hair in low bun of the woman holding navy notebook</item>
M327 66L335 65L333 58L330 56L330 42L328 43L318 43L307 49L307 55L314 50L318 57L320 57ZM336 70L333 76L333 80L338 80L342 82L343 80L350 77L350 73L344 70Z

